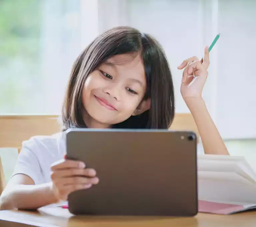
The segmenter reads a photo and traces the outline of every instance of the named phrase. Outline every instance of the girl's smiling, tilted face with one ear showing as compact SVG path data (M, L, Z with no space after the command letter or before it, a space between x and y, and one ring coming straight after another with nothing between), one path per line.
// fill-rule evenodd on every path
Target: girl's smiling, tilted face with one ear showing
M88 75L82 92L84 121L88 127L108 128L149 109L142 101L146 77L140 55L109 58Z

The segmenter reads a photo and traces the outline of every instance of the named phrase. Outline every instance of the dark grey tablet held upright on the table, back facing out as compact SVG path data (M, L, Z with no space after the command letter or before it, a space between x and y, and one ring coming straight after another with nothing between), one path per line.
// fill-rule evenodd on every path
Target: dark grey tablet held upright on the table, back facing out
M67 158L94 168L99 184L72 192L83 215L194 216L197 142L190 131L69 129Z

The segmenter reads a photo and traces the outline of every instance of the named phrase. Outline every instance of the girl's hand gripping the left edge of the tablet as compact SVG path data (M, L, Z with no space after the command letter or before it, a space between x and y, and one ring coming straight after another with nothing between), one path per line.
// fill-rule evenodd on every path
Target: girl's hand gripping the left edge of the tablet
M85 168L80 161L62 159L51 166L52 190L58 200L67 200L68 194L88 189L99 179L94 169Z

